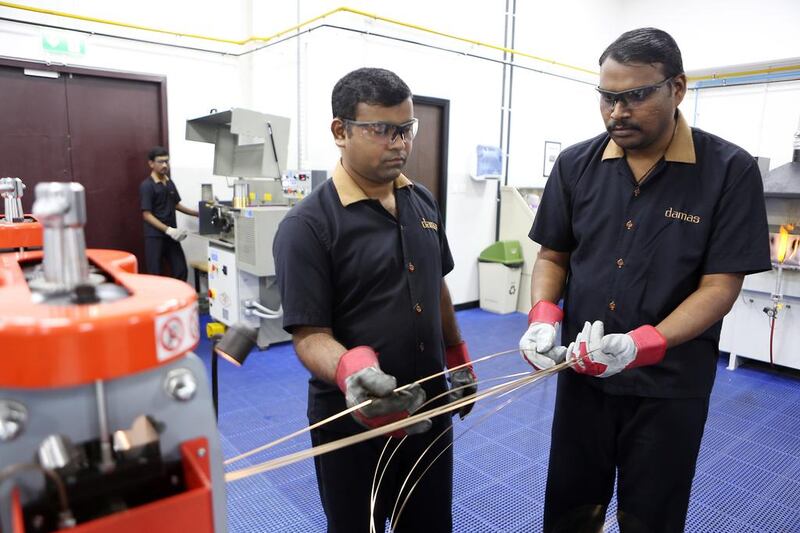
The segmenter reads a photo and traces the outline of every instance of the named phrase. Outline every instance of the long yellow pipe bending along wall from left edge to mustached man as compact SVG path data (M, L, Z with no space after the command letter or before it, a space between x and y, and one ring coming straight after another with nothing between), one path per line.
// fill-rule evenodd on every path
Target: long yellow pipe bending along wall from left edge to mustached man
M382 22L386 22L388 24L393 24L395 26L401 26L401 27L404 27L404 28L410 28L410 29L418 30L418 31L421 31L421 32L424 32L424 33L429 33L429 34L432 34L432 35L438 35L440 37L453 39L453 40L456 40L456 41L460 41L462 43L468 43L468 44L472 44L472 45L475 45L475 46L480 46L480 47L483 47L483 48L489 48L489 49L492 49L492 50L505 52L505 53L508 53L508 54L514 54L514 55L517 55L517 56L520 56L520 57L527 57L529 59L534 59L536 61L541 61L543 63L549 63L551 65L556 65L556 66L559 66L559 67L563 67L563 68L567 68L567 69L571 69L571 70L576 70L576 71L583 72L583 73L586 73L586 74L597 75L597 72L595 72L593 70L585 69L585 68L582 68L582 67L576 67L574 65L568 65L566 63L561 63L561 62L556 61L554 59L548 59L548 58L545 58L545 57L539 57L539 56L536 56L536 55L533 55L533 54L528 54L526 52L520 52L519 50L514 50L513 48L506 48L504 46L498 46L498 45L494 45L494 44L490 44L490 43L485 43L485 42L478 41L478 40L475 40L475 39L469 39L469 38L466 38L466 37L459 37L457 35L452 35L452 34L441 32L441 31L434 30L434 29L431 29L431 28L426 28L426 27L420 26L418 24L410 24L408 22L402 22L402 21L399 21L399 20L390 19L390 18L387 18L387 17L382 17L380 15L376 15L375 13L368 13L366 11L359 11L357 9L351 9L349 7L339 7L339 8L333 9L331 11L328 11L326 13L323 13L321 15L318 15L316 17L308 19L305 22L302 22L300 24L292 26L291 28L287 28L285 30L279 31L278 33L275 33L273 35L268 35L268 36L251 35L250 37L247 37L245 39L225 39L225 38L222 38L222 37L213 37L213 36L199 35L199 34L194 34L194 33L183 33L183 32L178 32L178 31L165 30L163 28L153 28L153 27L149 27L149 26L142 26L142 25L139 25L139 24L130 24L130 23L127 23L127 22L120 22L120 21L116 21L116 20L108 20L108 19L101 19L101 18L97 18L97 17L89 17L89 16L85 16L85 15L77 15L75 13L66 13L64 11L56 11L56 10L53 10L53 9L44 9L44 8L40 8L40 7L26 6L26 5L22 5L22 4L14 4L14 3L11 3L11 2L0 2L0 7L8 7L8 8L12 8L12 9L19 9L19 10L22 10L22 11L30 11L30 12L33 12L33 13L40 13L40 14L44 14L44 15L54 15L54 16L57 16L57 17L63 17L63 18L68 18L68 19L73 19L73 20L82 20L82 21L85 21L85 22L95 22L95 23L98 23L98 24L108 24L110 26L118 26L118 27L121 27L121 28L130 28L130 29L135 29L135 30L149 31L149 32L161 33L161 34L172 35L172 36L177 36L177 37L190 37L192 39L201 39L201 40L204 40L204 41L211 41L211 42L215 42L215 43L235 44L235 45L240 45L240 46L241 45L245 45L245 44L249 44L249 43L252 43L252 42L269 42L269 41L271 41L273 39L276 39L276 38L278 38L278 37L280 37L282 35L297 31L297 30L299 30L299 29L301 29L301 28L303 28L305 26L313 24L314 22L316 22L318 20L324 19L324 18L329 17L331 15L334 15L336 13L351 13L351 14L354 14L354 15L359 15L359 16L366 17L366 18L371 18L371 19L374 19L374 20L380 20Z

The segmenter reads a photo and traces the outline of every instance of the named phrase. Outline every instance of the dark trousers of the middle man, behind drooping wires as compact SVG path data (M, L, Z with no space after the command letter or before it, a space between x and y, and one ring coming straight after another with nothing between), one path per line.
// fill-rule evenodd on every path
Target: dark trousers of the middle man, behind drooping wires
M453 430L446 429L448 426L450 426L449 415L439 416L434 420L433 427L425 434L410 436L400 445L389 463L378 490L374 514L377 531L384 530L385 521L392 515L400 487L412 466L442 431L446 431L445 434L414 468L409 481L402 489L397 510L403 505L409 489L420 480L420 474L430 466L413 488L394 531L398 533L452 531L452 446L431 463L453 440ZM344 436L346 435L342 433L317 429L311 432L311 442L314 446L319 446ZM369 533L370 489L378 458L385 443L385 437L378 437L314 458L320 499L328 519L328 533ZM381 468L399 443L400 439L391 439L381 460ZM380 476L380 471L378 475Z

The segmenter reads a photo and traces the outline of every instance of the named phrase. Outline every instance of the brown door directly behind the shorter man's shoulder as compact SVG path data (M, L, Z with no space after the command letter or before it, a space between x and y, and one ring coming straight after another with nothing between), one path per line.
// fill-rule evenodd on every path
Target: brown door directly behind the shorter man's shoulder
M403 173L424 185L439 202L444 219L447 201L447 138L449 101L414 96L414 115L419 131Z

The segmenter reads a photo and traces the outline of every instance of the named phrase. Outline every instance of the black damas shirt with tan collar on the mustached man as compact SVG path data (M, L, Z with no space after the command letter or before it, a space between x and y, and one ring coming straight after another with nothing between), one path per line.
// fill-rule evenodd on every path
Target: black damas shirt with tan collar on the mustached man
M605 332L657 325L705 274L769 270L763 186L741 148L689 128L678 115L665 156L640 184L607 134L565 150L555 163L530 232L569 252L562 340L585 321ZM579 376L611 394L701 397L716 373L720 320L667 350L655 366L610 378Z

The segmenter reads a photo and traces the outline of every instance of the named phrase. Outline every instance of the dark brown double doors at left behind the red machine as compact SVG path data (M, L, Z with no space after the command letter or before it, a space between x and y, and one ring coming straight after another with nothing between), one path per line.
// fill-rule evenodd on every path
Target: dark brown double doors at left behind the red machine
M57 78L26 75L24 69ZM0 60L0 176L26 185L29 213L42 181L86 188L86 244L144 262L139 183L147 151L166 145L162 77Z

